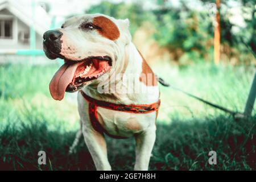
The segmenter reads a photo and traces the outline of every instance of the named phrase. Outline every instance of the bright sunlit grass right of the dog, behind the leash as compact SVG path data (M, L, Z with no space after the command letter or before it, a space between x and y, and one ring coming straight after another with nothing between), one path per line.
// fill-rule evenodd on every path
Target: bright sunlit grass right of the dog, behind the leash
M212 64L195 64L179 68L170 64L159 64L154 67L154 71L177 88L230 110L242 112L255 68L232 65L216 67ZM189 119L225 114L171 88L162 87L161 96L164 102L160 111L163 114L159 115L159 119L166 123L171 123L174 117ZM253 115L255 114L254 110Z

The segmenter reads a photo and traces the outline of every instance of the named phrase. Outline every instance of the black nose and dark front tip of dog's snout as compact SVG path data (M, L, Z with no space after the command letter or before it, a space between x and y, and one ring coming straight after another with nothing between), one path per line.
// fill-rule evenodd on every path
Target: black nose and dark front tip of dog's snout
M44 53L49 59L56 59L60 57L61 51L61 36L62 32L59 30L49 30L43 35L43 49Z

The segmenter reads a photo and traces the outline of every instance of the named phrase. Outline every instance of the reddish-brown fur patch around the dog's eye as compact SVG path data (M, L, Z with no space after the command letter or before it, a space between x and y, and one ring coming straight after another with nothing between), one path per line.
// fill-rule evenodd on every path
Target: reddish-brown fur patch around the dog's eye
M108 38L110 40L116 40L120 36L118 27L109 18L106 18L104 16L97 16L93 18L93 24L97 27L100 27L100 29L97 29L97 31L105 38Z

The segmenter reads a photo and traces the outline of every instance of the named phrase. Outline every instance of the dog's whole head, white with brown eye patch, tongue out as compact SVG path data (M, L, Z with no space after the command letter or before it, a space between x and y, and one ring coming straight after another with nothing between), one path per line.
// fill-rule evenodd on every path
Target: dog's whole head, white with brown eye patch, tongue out
M64 65L49 84L51 96L62 100L116 68L124 48L131 41L129 20L102 14L74 16L43 35L44 53L49 59L64 59Z

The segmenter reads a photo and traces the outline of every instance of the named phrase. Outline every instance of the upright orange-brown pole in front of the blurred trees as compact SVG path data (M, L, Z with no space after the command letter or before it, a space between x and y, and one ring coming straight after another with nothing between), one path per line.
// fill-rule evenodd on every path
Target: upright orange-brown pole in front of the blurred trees
M218 65L220 62L220 39L221 39L221 28L220 28L220 1L216 0L217 13L216 13L216 24L214 27L214 63Z

